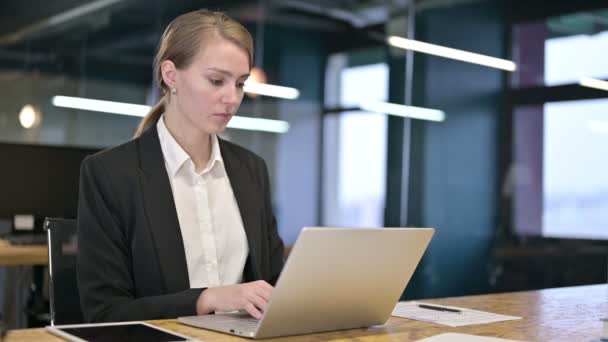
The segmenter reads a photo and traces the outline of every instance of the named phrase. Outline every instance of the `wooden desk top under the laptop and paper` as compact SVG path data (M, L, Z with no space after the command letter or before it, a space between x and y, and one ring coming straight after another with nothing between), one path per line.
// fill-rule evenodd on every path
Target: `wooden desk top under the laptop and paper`
M415 341L444 332L460 332L528 341L591 341L602 333L600 319L608 315L608 286L592 285L429 300L522 316L515 321L450 328L391 317L381 327L293 336L272 341ZM181 325L175 320L151 323L204 341L247 341ZM61 341L43 329L9 331L6 341Z

